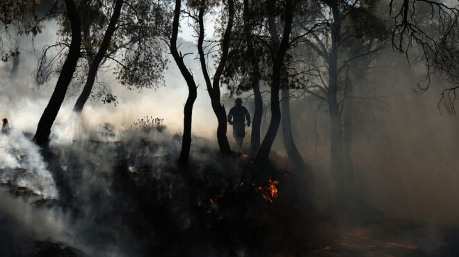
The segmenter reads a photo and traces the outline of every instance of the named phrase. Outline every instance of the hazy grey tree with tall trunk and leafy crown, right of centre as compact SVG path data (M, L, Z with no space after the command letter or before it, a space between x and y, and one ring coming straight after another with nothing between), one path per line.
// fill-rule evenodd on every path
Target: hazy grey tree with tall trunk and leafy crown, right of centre
M321 24L320 29L303 39L315 56L305 65L305 73L314 74L315 78L309 77L309 84L304 89L328 104L332 174L337 185L351 185L353 163L350 147L344 144L344 123L341 119L344 103L344 97L340 95L343 89L342 72L351 61L384 49L387 45L387 29L383 21L373 15L372 5L362 3L349 6L340 0L323 3L325 5L319 13L331 15L319 15L317 19L318 24ZM309 29L301 22L298 22L298 26L302 28L300 31ZM356 47L351 51L353 44L361 45L358 40L367 42L368 46ZM323 67L326 72L323 72Z

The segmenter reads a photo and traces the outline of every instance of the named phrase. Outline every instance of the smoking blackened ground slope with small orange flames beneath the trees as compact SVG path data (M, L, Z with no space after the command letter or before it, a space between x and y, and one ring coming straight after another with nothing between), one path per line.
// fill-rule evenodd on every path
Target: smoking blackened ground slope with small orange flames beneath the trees
M184 174L171 150L179 137L167 132L47 149L19 131L0 139L2 256L453 256L459 247L451 226L357 200L340 213L280 156L259 169L195 138Z

